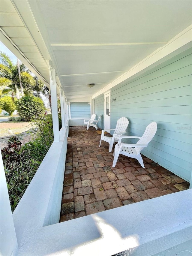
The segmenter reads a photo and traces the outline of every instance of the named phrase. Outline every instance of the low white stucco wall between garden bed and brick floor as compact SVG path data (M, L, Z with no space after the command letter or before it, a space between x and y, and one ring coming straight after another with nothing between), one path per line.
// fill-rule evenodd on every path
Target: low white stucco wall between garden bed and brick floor
M59 221L66 151L67 131L61 128L60 141L52 143L13 212L19 244L35 230Z

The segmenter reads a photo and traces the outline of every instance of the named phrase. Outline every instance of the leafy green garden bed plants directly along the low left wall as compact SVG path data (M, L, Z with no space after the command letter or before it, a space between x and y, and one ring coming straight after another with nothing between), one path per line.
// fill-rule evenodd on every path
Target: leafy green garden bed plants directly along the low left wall
M44 115L35 124L35 139L21 146L18 136L10 137L8 146L1 149L12 211L53 142L52 115Z

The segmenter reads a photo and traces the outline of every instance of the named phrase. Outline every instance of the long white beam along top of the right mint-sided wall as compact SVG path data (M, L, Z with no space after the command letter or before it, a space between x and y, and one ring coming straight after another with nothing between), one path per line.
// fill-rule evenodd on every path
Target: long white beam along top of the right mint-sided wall
M131 68L128 72L126 72L125 74L122 74L122 76L118 77L112 83L107 85L104 89L102 89L101 91L93 95L92 98L96 98L97 96L103 94L107 90L110 90L114 86L125 82L130 77L133 77L139 72L146 70L147 68L152 68L153 67L152 65L160 64L159 61L163 60L164 62L165 60L172 58L174 55L178 54L177 50L179 50L181 47L186 46L186 48L182 49L182 51L187 50L187 48L191 47L191 44L190 44L192 41L191 35L192 35L192 25L190 25L189 27L184 29L182 32L180 32L178 35L176 35L174 38L172 38L166 45L164 45L163 47L160 47L155 52L147 56L145 59L143 59L133 68ZM175 54L173 55L174 52Z

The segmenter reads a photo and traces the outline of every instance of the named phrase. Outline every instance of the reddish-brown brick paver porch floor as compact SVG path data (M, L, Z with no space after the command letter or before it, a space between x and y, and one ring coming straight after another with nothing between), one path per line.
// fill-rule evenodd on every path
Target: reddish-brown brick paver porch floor
M95 128L70 127L60 222L163 196L189 188L189 183L143 156L120 156L113 168L113 151Z

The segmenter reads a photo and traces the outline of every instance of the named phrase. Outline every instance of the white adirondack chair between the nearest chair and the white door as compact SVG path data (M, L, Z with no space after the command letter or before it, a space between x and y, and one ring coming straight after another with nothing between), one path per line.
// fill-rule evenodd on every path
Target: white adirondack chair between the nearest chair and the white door
M101 140L104 140L104 141L109 143L109 152L112 151L113 144L119 140L119 137L122 134L126 133L126 129L128 127L128 124L129 124L129 120L126 117L121 117L120 119L117 120L117 125L116 125L115 129L102 130ZM105 131L110 132L110 131L113 131L113 130L115 130L114 134L113 134L113 137L108 137L108 136L104 135ZM100 140L99 147L101 146L101 140Z

